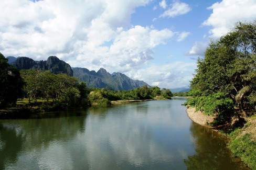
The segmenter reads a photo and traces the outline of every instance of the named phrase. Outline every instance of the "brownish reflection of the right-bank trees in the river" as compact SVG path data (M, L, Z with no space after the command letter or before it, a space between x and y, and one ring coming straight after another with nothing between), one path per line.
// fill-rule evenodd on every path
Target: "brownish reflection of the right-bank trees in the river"
M231 157L225 141L216 132L196 123L191 123L190 131L197 153L184 160L187 169L248 169Z

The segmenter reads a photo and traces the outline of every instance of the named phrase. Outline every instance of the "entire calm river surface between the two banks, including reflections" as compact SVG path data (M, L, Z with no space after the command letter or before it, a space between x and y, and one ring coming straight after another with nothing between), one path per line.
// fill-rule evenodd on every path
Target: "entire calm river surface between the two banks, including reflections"
M0 169L248 169L184 98L0 120Z

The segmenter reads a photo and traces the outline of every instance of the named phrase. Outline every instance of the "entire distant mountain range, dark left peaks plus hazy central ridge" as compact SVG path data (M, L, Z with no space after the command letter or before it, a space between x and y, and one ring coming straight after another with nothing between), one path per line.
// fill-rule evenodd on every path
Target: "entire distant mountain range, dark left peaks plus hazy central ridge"
M59 60L57 56L49 56L47 61L34 61L33 59L21 56L15 58L8 56L8 63L13 64L18 70L22 69L40 69L50 70L52 73L65 73L73 77L77 77L78 81L86 82L87 87L110 87L114 90L129 90L144 85L149 86L144 81L132 80L122 73L108 73L101 68L98 72L89 71L86 68L71 67L65 61Z

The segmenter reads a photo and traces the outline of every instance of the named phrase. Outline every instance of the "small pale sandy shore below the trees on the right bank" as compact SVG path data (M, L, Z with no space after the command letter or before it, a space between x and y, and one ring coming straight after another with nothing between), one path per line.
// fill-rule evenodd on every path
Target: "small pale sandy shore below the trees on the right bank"
M205 126L207 125L207 123L210 123L214 120L214 117L212 116L207 116L207 115L203 115L201 111L197 111L195 112L195 108L193 107L189 107L187 108L187 114L188 114L188 117L198 123L198 124L201 124L202 126Z

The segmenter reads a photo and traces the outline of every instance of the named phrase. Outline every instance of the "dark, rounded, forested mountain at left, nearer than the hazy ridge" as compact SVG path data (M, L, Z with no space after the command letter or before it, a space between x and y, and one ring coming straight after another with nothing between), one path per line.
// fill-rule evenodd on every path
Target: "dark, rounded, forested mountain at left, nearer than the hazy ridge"
M13 60L13 58L9 58L9 61ZM65 73L69 76L73 76L73 70L71 69L71 66L66 63L65 61L62 61L57 58L57 56L49 56L47 61L34 61L33 59L30 59L26 56L20 56L16 58L12 64L18 69L18 70L27 70L27 69L40 69L40 70L50 70L52 73L58 74L58 73Z

